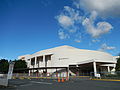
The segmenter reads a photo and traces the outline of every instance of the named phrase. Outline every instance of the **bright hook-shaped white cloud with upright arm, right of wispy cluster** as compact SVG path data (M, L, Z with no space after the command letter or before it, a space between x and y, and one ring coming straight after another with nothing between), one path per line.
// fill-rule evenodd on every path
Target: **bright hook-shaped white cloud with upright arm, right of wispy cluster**
M113 27L108 22L98 22L95 24L95 19L97 17L97 12L92 11L89 18L85 18L82 22L82 25L86 28L86 31L88 34L90 34L92 37L97 38L100 37L103 34L108 33Z

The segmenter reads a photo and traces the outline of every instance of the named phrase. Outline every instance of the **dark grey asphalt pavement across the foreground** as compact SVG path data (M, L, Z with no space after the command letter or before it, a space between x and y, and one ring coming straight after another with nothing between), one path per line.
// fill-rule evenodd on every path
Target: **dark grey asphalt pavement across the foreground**
M11 80L10 86L0 90L120 90L120 82L74 80L58 83L53 80Z

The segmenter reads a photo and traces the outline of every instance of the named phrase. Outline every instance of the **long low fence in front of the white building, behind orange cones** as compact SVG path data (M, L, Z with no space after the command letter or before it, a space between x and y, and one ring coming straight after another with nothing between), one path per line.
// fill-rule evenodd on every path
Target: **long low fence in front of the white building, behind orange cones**
M31 79L31 78L39 78L39 79L65 79L65 80L88 80L90 78L90 73L72 73L71 71L68 72L54 72L54 73L14 73L13 79Z

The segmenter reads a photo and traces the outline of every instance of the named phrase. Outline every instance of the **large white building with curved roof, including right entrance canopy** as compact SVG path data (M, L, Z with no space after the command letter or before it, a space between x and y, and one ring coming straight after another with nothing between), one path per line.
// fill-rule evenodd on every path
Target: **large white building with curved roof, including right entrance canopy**
M108 53L67 45L19 56L18 59L25 60L29 68L79 67L79 73L94 72L94 75L98 72L110 72L116 64L116 60ZM75 73L74 71L76 70L70 69L70 72ZM47 72L53 73L55 70Z

